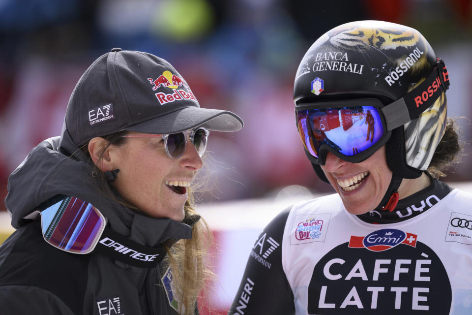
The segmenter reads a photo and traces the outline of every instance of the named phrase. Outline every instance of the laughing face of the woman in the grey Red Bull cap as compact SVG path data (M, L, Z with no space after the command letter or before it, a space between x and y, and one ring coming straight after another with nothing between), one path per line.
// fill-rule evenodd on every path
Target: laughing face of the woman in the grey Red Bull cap
M119 169L113 186L126 201L150 217L183 220L187 188L203 165L189 140L177 159L166 154L161 137L128 138L107 151L111 169Z

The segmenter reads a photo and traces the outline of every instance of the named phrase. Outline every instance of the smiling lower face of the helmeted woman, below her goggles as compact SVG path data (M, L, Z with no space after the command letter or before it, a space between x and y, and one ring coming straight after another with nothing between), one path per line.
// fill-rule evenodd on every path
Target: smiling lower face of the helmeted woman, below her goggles
M346 210L354 215L374 210L382 201L392 178L385 158L385 146L359 163L346 162L329 152L321 168L341 196Z

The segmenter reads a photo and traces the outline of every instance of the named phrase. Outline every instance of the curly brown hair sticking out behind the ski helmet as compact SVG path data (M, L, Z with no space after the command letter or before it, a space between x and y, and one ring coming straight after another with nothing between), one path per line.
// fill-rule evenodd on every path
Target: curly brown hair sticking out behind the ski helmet
M446 176L453 166L461 162L460 152L464 143L460 140L460 129L455 119L448 117L446 130L429 163L428 172L434 178Z

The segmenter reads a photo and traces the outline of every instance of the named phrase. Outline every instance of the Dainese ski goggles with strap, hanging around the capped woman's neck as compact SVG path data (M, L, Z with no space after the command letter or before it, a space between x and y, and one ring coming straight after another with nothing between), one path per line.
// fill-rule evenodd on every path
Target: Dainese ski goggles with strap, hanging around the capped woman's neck
M138 267L154 267L165 256L163 248L148 248L107 227L107 219L87 201L57 195L41 204L24 219L41 217L44 240L69 253L95 250Z

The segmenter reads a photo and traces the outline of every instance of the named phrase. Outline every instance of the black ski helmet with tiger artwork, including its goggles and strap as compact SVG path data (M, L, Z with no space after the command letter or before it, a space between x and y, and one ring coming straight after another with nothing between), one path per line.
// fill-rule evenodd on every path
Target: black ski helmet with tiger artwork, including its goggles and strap
M417 178L445 131L449 77L420 32L357 21L322 35L295 75L296 124L318 176L327 152L360 162L385 145L394 176Z

